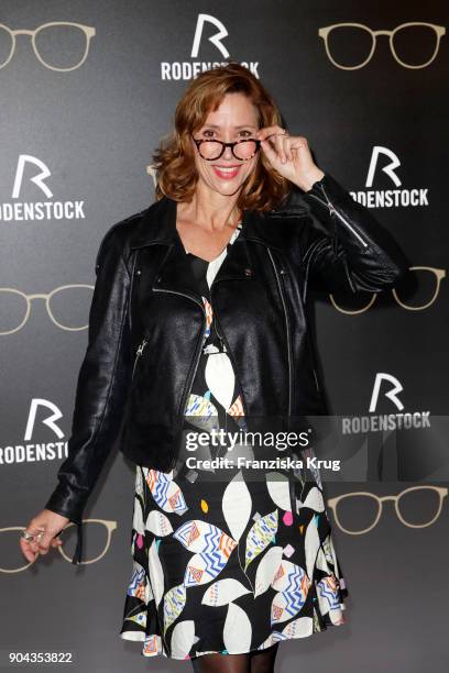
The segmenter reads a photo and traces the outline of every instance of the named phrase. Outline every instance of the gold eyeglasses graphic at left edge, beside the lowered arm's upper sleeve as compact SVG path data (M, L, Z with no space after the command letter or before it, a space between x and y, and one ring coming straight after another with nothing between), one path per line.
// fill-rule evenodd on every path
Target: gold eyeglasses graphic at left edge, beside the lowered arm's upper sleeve
M72 327L72 326L65 324L64 322L62 322L62 320L57 320L55 317L55 312L54 312L56 308L52 310L52 306L51 306L52 299L53 301L55 301L56 297L61 297L63 293L65 293L65 304L64 304L65 307L67 307L68 304L70 304L69 298L72 299L72 302L75 302L76 294L73 290L77 290L80 288L94 290L92 285L85 285L85 284L61 285L59 287L55 287L55 289L52 290L51 293L25 295L25 293L22 293L21 290L18 290L13 287L0 287L0 336L3 336L6 334L12 334L23 328L26 320L30 318L31 301L33 299L45 299L45 307L50 316L50 319L59 329L67 330L69 332L87 330L88 323L87 324L83 323L80 327ZM70 290L72 290L72 297L70 297ZM89 298L91 299L91 295L89 295ZM4 321L7 319L9 321L11 320L11 315L13 312L12 306L17 307L18 310L23 309L24 315L22 319L18 315L19 324L13 327L12 329L4 329ZM86 313L85 310L83 312L84 315Z

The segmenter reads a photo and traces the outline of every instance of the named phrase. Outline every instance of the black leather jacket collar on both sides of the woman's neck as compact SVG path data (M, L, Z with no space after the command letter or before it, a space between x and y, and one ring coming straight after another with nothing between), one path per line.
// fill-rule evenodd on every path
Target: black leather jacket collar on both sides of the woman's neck
M163 197L152 203L143 211L135 230L132 232L130 247L143 247L156 243L169 245L179 242L179 234L176 230L176 209L177 201L169 197ZM241 239L255 241L277 250L284 247L282 228L278 227L278 222L253 210L243 212L242 229L236 242Z

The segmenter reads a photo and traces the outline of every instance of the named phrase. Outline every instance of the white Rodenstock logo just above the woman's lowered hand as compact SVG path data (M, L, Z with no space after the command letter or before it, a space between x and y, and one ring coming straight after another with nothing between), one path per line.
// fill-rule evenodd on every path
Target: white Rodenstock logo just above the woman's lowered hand
M63 418L59 408L52 401L35 397L31 400L23 443L0 446L0 465L53 461L67 456L67 442L56 421ZM53 442L33 442L39 426L46 426L55 435Z

